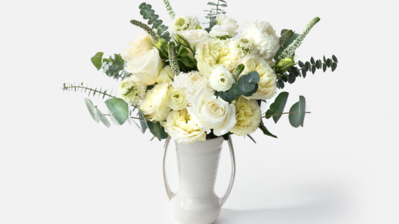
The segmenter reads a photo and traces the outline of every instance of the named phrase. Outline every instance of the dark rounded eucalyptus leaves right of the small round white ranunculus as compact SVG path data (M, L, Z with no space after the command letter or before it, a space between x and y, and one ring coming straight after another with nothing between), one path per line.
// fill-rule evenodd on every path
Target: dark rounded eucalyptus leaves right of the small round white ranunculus
M221 97L226 102L231 103L231 101L236 98L243 96L251 96L258 89L258 82L260 76L256 71L251 71L246 75L242 75L236 83L234 83L231 88L224 92L217 92L216 95Z

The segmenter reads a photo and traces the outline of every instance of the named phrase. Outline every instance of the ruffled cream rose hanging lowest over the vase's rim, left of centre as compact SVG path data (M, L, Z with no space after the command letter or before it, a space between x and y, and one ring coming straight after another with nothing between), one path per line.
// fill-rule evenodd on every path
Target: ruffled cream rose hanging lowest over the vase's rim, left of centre
M187 109L173 110L166 122L161 122L165 132L177 143L192 144L196 141L205 141L207 134L198 126Z

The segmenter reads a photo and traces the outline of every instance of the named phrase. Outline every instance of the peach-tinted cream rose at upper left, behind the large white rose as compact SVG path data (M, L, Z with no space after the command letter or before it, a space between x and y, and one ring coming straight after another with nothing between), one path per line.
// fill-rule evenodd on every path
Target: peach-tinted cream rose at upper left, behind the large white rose
M128 61L134 58L142 57L147 51L153 48L153 43L147 32L141 33L135 40L127 44L127 48L120 53L123 60Z

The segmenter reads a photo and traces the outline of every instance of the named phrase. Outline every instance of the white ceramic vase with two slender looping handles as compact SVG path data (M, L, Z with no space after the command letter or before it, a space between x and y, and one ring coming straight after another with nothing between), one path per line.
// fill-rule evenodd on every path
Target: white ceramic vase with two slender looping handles
M164 180L170 200L171 212L181 224L211 224L219 217L221 207L230 194L235 176L234 149L228 140L232 174L227 192L222 198L215 194L223 138L210 139L191 144L176 143L179 171L179 191L173 193L166 178L165 159L170 138L165 143Z

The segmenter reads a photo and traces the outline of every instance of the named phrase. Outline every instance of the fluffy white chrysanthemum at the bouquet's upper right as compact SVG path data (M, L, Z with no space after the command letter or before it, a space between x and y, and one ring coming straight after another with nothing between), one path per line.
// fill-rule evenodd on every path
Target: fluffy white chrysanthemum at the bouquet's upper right
M248 23L241 36L252 41L257 54L264 60L271 60L280 48L279 37L267 22Z

